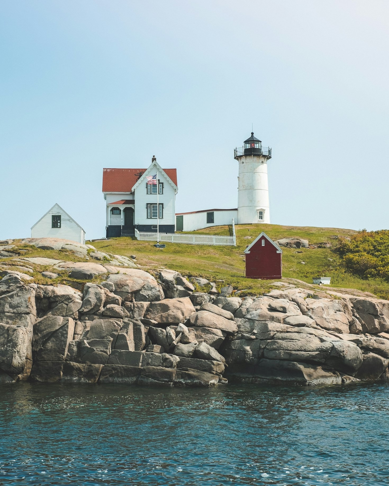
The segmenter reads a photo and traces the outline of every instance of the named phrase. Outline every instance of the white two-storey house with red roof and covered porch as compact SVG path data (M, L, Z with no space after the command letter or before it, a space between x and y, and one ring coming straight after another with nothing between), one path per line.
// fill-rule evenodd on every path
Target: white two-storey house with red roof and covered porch
M155 174L158 184L147 184ZM160 233L174 233L177 191L177 170L162 169L154 156L147 169L103 169L106 237L157 231L157 219Z

